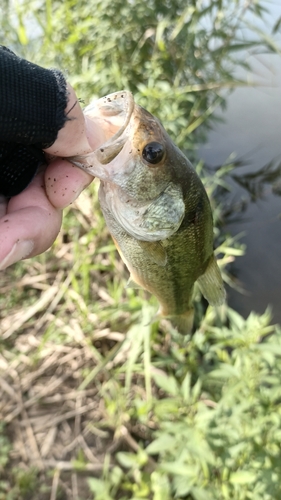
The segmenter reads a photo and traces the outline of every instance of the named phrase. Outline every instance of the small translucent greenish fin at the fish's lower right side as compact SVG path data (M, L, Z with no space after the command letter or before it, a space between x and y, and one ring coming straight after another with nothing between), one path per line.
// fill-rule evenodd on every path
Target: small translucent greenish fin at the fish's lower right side
M208 267L197 280L199 289L211 306L220 306L225 301L225 289L214 255Z

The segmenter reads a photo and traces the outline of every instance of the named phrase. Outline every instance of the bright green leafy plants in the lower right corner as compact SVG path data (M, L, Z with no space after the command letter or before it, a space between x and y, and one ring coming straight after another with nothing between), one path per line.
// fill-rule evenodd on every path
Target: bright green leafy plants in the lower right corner
M227 315L228 327L213 327L209 311L191 339L173 332L166 354L159 355L160 339L152 331L145 343L147 328L128 332L133 345L143 342L141 366L135 356L119 373L127 375L138 363L135 373L152 377L143 399L131 397L131 386L122 391L120 378L111 379L108 418L126 428L141 421L150 443L140 440L134 453L117 453L117 465L89 481L94 498L280 497L281 331L268 325L268 312L247 320L230 309ZM108 398L113 390L121 395L114 408Z

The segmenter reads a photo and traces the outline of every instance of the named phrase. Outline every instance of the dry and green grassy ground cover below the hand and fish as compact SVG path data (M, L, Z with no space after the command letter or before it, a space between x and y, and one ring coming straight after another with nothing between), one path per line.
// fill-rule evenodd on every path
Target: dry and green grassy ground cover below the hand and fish
M96 191L1 274L0 500L276 500L280 328L198 291L192 337L155 321ZM222 267L241 252L223 240Z

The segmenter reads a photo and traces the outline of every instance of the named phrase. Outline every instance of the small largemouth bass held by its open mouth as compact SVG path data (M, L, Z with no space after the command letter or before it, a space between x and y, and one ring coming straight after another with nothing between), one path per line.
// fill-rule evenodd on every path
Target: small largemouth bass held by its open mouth
M131 93L110 94L84 113L100 123L107 140L70 161L100 179L100 205L129 269L128 286L155 295L159 313L189 333L196 281L211 305L225 299L204 186L160 121Z

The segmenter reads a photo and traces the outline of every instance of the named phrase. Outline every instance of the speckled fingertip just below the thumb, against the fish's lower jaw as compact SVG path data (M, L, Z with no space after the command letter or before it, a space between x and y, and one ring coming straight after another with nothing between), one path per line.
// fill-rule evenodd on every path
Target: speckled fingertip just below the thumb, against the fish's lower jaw
M45 172L46 193L54 207L64 208L76 200L93 179L92 175L67 160L56 159Z

